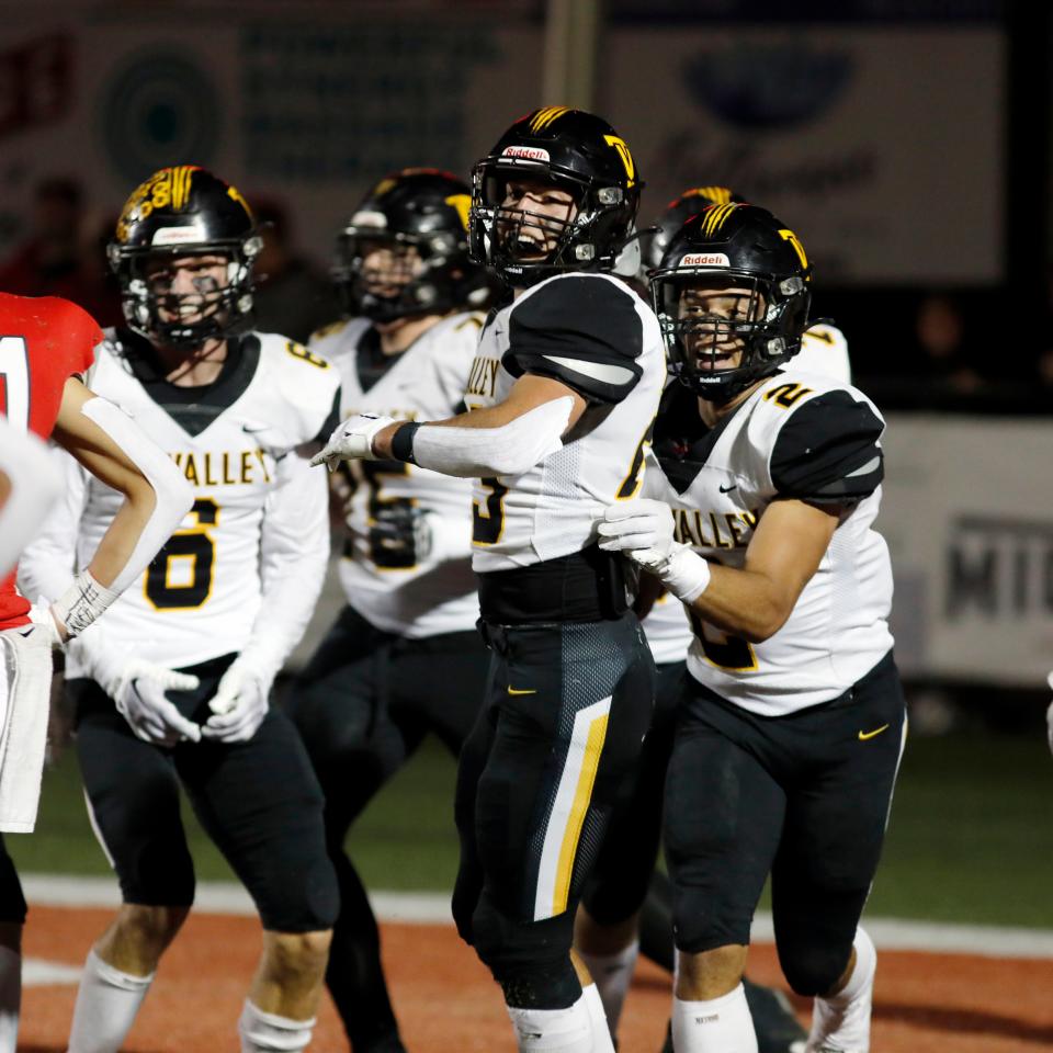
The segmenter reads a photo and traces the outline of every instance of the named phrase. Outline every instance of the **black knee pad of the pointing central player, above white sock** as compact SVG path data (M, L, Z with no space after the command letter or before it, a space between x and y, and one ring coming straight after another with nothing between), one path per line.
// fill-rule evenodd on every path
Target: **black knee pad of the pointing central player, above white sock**
M484 893L472 917L472 940L479 960L520 1009L566 1009L581 996L570 962L574 915L565 910L542 921L510 917Z

